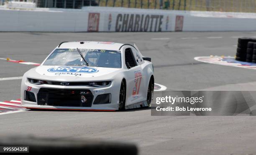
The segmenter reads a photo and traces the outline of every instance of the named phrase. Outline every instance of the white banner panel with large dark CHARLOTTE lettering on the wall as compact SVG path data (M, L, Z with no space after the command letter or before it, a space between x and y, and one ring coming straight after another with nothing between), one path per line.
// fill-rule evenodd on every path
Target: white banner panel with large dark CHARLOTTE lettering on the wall
M174 15L158 13L105 13L104 31L161 32L172 31ZM174 17L175 18L175 17Z

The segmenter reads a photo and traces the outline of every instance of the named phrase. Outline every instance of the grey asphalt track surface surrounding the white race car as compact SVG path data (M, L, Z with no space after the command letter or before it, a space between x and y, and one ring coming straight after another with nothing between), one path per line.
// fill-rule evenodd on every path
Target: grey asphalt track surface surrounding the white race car
M240 36L256 32L2 32L0 57L41 63L62 41L135 42L152 58L155 82L167 90L256 90L255 70L194 60L234 56ZM0 78L20 77L32 67L0 60ZM19 96L20 80L0 81L0 101ZM0 135L118 140L136 143L141 155L255 154L255 129L255 116L151 116L150 109L0 115Z

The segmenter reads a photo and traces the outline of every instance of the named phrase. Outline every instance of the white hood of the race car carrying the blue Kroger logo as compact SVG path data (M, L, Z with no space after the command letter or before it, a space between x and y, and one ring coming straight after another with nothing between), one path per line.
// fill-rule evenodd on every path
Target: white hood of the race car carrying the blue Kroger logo
M52 81L91 81L112 79L121 68L87 66L38 66L26 73L27 77Z

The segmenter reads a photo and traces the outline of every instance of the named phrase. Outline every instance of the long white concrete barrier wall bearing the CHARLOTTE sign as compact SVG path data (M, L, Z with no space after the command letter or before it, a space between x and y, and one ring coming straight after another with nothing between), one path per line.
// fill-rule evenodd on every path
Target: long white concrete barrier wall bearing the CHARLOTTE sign
M255 13L146 10L121 7L82 9L0 8L0 31L163 32L256 30Z

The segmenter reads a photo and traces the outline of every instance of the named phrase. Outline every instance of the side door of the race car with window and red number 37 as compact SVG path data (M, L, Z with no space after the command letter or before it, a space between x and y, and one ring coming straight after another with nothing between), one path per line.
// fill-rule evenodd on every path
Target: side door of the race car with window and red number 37
M137 61L136 50L133 47L125 49L125 65L128 68L128 74L126 75L126 105L130 105L143 100L141 93L143 74L141 65Z

